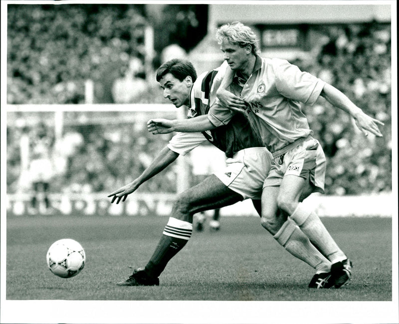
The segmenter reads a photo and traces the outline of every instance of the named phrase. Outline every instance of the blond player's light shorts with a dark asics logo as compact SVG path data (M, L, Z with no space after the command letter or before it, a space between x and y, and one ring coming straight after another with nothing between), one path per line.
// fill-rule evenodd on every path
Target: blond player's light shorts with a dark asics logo
M324 193L326 157L318 140L309 137L285 153L282 162L280 157L273 159L263 187L280 186L283 177L288 174L309 179L314 192Z

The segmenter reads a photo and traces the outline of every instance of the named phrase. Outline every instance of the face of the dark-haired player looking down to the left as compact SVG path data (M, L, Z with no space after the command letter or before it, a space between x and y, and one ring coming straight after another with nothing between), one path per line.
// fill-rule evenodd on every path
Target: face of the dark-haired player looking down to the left
M164 89L164 97L171 100L176 108L189 104L190 89L193 85L191 76L180 81L172 73L167 73L159 83Z

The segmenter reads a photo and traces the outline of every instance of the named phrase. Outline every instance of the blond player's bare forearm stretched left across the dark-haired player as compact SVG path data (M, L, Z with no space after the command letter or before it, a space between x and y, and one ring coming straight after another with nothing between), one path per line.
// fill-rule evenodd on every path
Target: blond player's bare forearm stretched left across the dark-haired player
M196 133L205 130L214 129L214 126L208 119L207 115L189 119L150 119L147 122L148 131L153 134L166 134L171 132Z

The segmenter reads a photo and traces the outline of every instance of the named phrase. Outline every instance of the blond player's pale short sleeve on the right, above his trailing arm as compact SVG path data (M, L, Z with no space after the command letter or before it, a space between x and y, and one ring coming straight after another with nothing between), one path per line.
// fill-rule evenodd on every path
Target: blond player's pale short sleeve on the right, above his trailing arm
M286 98L313 105L326 83L286 60L278 62L275 68L277 91Z

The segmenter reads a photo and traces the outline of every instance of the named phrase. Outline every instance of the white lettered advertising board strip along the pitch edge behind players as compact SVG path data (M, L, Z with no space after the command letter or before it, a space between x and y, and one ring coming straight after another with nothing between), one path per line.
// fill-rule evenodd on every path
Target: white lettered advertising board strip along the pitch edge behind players
M106 193L99 194L53 194L50 196L54 215L103 215L103 216L169 216L172 212L174 194L134 194L117 204L111 204ZM34 215L30 211L30 196L7 195L7 217ZM397 207L392 193L363 196L324 196L312 194L304 203L322 217L392 217ZM40 213L44 214L41 203ZM208 212L209 214L211 211ZM256 216L250 199L224 207L221 216Z

